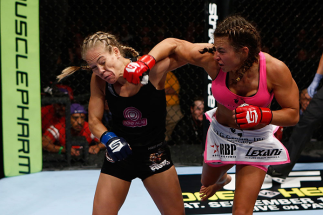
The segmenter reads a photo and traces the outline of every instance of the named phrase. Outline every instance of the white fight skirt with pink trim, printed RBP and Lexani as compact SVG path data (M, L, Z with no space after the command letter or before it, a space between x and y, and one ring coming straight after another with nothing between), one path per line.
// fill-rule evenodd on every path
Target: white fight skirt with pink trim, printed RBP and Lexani
M204 151L206 164L267 166L290 162L285 146L274 136L278 126L267 125L257 130L230 128L217 122L215 111L216 108L205 113L211 122Z

